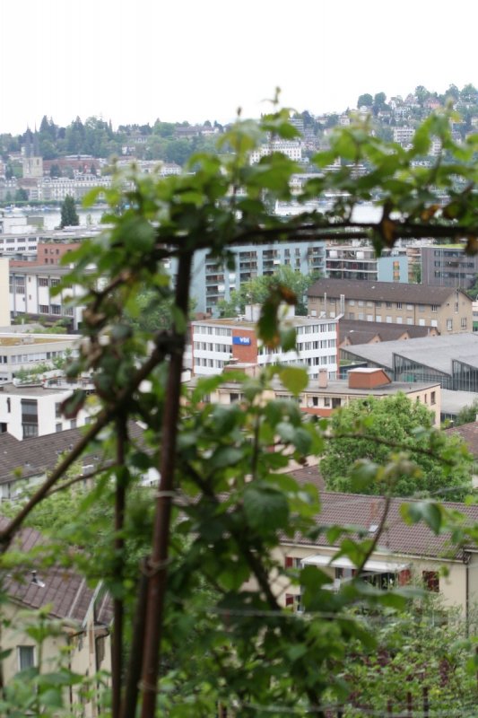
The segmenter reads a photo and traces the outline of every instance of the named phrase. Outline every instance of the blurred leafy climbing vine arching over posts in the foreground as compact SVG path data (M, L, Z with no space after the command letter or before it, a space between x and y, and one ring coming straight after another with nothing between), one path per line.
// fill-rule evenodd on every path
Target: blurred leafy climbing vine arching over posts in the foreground
M358 645L372 651L377 645L377 636L363 626L357 609L406 608L408 594L403 589L378 591L361 582L361 569L375 544L353 538L346 530L343 534L337 529L335 538L342 555L356 566L357 577L341 591L330 591L332 578L317 567L291 571L282 565L278 549L283 537L323 538L315 520L320 503L314 487L300 486L282 471L291 460L320 456L327 443L339 437L334 420L330 425L309 421L296 401L261 400L277 375L286 390L298 395L307 375L291 366L266 366L254 378L238 375L244 396L240 404L204 400L223 377L209 377L189 391L181 390L192 259L196 250L207 249L227 267L231 245L291 239L369 239L380 250L400 237L466 236L473 250L478 200L470 185L477 180L478 145L473 138L465 147L454 143L450 116L428 118L410 150L369 136L368 125L349 127L331 136L326 152L311 158L317 172L300 196L294 196L304 206L328 197L328 205L322 212L305 211L283 220L270 207L291 200L296 163L272 153L251 165L249 153L267 134L297 136L289 118L289 110L275 108L260 126L239 120L220 137L216 152L196 154L179 176L160 180L133 169L118 174L113 186L103 190L109 228L75 250L75 266L55 290L61 292L67 285L83 288L77 299L87 305L81 355L68 371L72 376L93 373L98 413L74 449L0 531L0 542L7 547L83 451L99 451L99 470L82 497L81 517L74 530L70 524L56 527L55 538L66 549L66 535L81 544L84 531L95 526L87 513L100 511L101 521L114 513L112 530L90 532L91 538L96 531L99 547L108 547L104 558L83 555L89 564L83 566L85 573L101 574L115 598L114 718L132 693L133 705L128 704L126 714L137 713L138 685L143 718L152 718L157 705L171 718L209 718L219 702L244 718L276 709L277 714L312 711L320 718L322 708L317 706L323 705L325 696L349 695L343 676L335 670L347 652L359 650ZM65 143L78 147L83 136L86 128L78 118ZM415 160L428 152L435 136L447 154L433 167L423 168ZM230 152L224 153L226 149ZM337 160L340 169L327 171ZM355 171L357 163L367 167L365 174ZM436 191L446 191L448 199L437 203ZM99 192L92 193L91 203ZM354 223L354 206L372 197L378 197L381 218ZM165 266L171 260L178 262L174 286ZM86 273L91 263L95 268ZM149 309L151 297L158 295L170 302L168 327L158 330L156 322L139 326L142 307ZM146 305L141 303L144 296ZM278 317L283 302L295 301L287 286L272 284L257 327L265 346L290 346L293 337L282 333ZM65 408L74 416L85 400L83 392L77 392ZM400 411L419 414L416 408L400 406ZM461 448L433 431L428 415L420 413L419 420L425 428L413 434L413 442L396 426L396 455L379 455L384 437L375 434L377 451L361 455L361 477L366 476L371 486L388 488L382 477L396 477L393 486L415 482L416 466L398 453L402 449L413 450L417 459L427 457L430 465L435 460L437 474L428 488L441 488L445 480L451 483L448 474L458 477L463 471ZM141 442L131 439L131 421L144 427ZM373 417L353 426L357 443L364 440L364 426L373 431ZM378 465L377 458L384 464ZM161 475L154 502L150 495L142 501L143 495L135 491L148 470ZM437 532L448 518L439 506L427 502L414 503L404 513L407 521L427 521ZM454 536L476 538L463 527ZM140 537L141 550L135 556ZM144 541L151 541L146 565L138 560ZM57 560L71 560L70 553L58 554ZM75 559L80 564L81 556ZM300 587L309 616L304 619L284 609L274 577ZM132 635L134 615L137 620L145 617L145 627L137 634L139 644L131 644L132 670L126 670L127 642L120 627ZM136 666L141 676L135 674Z

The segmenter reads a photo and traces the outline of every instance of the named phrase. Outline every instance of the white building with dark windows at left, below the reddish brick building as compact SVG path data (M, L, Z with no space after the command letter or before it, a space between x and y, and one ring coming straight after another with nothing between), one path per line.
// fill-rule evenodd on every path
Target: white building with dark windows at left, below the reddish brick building
M81 297L82 287L73 285L52 296L50 289L59 285L68 267L12 267L10 270L10 312L12 318L22 314L42 315L45 319L67 319L76 330L82 321L83 307L71 300Z

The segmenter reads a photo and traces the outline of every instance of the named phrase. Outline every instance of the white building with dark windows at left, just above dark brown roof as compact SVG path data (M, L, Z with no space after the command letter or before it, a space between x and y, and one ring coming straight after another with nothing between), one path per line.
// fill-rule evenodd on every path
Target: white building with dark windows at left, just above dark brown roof
M91 390L89 382L84 384ZM76 388L76 384L74 385ZM0 386L0 433L8 432L15 439L29 439L48 433L75 429L90 422L90 413L80 409L77 416L66 419L61 405L71 396L73 388L67 382Z

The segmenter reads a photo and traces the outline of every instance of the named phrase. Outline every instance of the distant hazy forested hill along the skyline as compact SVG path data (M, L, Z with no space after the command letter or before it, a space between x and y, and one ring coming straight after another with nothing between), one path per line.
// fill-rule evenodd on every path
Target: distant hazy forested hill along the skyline
M313 100L312 100L313 102ZM415 127L431 111L452 105L459 114L454 121L456 139L465 139L478 126L478 91L473 84L461 90L450 85L443 93L431 92L419 85L405 97L387 98L385 92L364 92L357 98L356 107L314 115L308 109L297 113L295 120L305 143L303 157L320 149L326 136L336 125L347 125L354 117L369 117L371 129L387 140L394 139L395 127ZM163 160L183 165L187 158L202 150L213 150L224 127L206 120L201 125L188 122L161 122L152 125L120 125L113 129L111 122L91 117L84 121L77 117L67 127L59 127L52 118L44 116L39 130L26 128L22 135L0 134L0 154L6 174L13 172L9 161L25 148L44 160L67 155L90 155L109 159L112 156L134 156L140 160Z

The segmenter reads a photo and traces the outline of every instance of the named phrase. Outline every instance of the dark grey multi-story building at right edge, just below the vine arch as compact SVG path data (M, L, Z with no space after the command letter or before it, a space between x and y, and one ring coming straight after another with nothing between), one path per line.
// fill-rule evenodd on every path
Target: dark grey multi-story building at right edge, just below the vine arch
M467 289L478 274L478 256L465 252L465 245L422 247L422 283Z

